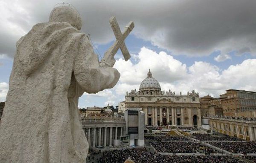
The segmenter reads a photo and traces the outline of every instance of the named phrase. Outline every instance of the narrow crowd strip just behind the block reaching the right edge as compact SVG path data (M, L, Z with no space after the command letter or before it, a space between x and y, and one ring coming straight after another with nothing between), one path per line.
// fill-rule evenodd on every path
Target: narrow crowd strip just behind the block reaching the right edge
M242 139L238 137L230 137L230 136L212 136L211 134L199 134L194 133L192 137L197 140L210 140L210 141L242 141Z

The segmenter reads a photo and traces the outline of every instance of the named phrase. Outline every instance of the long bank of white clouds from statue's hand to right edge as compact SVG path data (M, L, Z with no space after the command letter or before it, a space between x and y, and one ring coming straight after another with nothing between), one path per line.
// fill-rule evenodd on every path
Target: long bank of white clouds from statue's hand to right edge
M194 89L200 96L211 94L218 97L227 89L256 91L256 59L247 59L241 64L221 70L207 62L195 62L187 67L166 52L157 54L145 47L141 49L138 58L138 62L134 64L125 63L122 59L116 61L115 68L119 70L121 77L114 91L122 97L119 101L123 100L126 91L139 90L148 68L160 82L162 91L171 89L176 94L186 94Z

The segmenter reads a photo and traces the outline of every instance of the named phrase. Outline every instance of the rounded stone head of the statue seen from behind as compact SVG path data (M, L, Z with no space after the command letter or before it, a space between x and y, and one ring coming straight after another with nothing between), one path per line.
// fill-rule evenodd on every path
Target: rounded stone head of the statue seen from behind
M71 5L55 7L50 14L49 22L67 22L78 30L82 27L81 17L78 11Z

